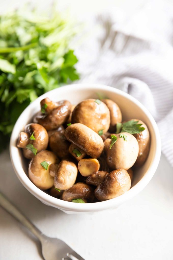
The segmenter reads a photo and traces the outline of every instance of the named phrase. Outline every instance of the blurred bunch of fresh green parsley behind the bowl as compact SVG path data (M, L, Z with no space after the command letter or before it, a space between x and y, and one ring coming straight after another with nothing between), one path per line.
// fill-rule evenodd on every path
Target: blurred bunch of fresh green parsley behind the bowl
M0 151L21 112L43 93L79 79L69 43L76 33L56 11L0 16Z

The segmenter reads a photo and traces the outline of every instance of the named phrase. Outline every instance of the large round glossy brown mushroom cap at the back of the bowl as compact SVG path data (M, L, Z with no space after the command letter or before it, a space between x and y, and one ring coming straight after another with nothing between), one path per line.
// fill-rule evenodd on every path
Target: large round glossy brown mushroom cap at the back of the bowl
M98 133L103 129L106 133L110 126L110 112L108 107L95 99L87 99L80 102L73 110L72 123L82 123Z

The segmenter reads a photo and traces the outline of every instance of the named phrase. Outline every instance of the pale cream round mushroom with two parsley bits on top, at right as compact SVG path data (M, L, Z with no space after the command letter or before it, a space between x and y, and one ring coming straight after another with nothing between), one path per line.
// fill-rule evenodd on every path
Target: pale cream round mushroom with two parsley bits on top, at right
M137 159L139 145L136 138L129 133L120 133L115 135L117 141L112 145L109 142L106 151L106 161L111 169L128 170ZM110 149L111 148L111 149Z

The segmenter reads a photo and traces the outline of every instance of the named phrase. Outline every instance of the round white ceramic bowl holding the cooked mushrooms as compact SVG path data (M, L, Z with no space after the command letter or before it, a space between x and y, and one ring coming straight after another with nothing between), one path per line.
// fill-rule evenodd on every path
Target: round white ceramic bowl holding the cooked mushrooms
M72 104L77 104L82 100L88 98L98 98L96 93L102 93L115 101L122 112L123 120L132 118L141 119L148 126L151 144L150 152L145 164L136 170L135 178L132 187L129 191L119 197L103 202L78 204L66 202L54 197L38 189L28 178L27 163L23 158L21 149L16 147L18 135L23 131L26 124L31 122L33 115L40 109L40 101L49 97L53 101L69 100ZM153 177L161 155L161 140L160 134L155 120L148 112L148 110L132 96L117 90L116 88L108 87L99 84L73 84L58 89L54 89L46 94L40 96L32 102L19 116L10 140L10 156L13 168L17 177L25 188L30 191L41 202L56 207L66 213L84 213L84 212L98 212L106 209L113 209L118 207L123 202L134 197L137 193L142 191Z

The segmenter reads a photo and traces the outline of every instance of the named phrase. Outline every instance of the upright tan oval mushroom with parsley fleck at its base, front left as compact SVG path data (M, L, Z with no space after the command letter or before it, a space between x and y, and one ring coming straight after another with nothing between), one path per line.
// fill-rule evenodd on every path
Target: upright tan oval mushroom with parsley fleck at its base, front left
M54 186L59 190L69 189L76 180L78 168L72 161L62 160L54 177Z

